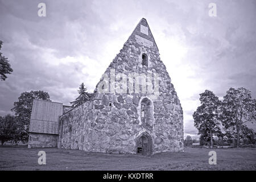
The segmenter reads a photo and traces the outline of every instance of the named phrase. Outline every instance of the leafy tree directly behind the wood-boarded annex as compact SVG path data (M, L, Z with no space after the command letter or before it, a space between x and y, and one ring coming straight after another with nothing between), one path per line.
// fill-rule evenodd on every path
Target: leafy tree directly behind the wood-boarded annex
M15 112L15 117L20 125L20 139L24 142L28 139L28 129L34 99L51 101L47 92L32 90L31 92L21 93L18 102L14 102L14 107L11 109L11 111Z

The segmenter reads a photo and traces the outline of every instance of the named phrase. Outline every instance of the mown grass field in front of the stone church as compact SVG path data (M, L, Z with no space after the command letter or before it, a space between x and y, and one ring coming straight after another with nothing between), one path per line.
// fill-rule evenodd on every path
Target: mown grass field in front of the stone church
M46 165L38 152L46 152ZM210 165L208 148L185 148L152 156L110 155L57 148L0 147L0 170L255 170L256 148L214 149L217 164Z

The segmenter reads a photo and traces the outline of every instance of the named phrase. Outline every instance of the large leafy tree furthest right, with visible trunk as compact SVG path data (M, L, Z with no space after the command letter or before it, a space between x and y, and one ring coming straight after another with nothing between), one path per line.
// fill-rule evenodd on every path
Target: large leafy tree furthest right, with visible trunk
M240 146L241 128L246 122L255 122L256 100L245 88L230 88L224 96L221 107L221 121L225 130L234 131L237 147Z

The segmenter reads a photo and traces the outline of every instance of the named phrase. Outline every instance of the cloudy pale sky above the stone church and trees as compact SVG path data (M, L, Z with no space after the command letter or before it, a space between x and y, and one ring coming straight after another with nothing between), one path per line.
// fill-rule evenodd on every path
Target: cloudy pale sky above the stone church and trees
M40 2L46 17L38 16ZM208 15L211 2L216 17ZM44 90L65 105L81 82L93 92L143 17L180 98L185 135L197 134L192 114L205 89L222 98L230 87L243 86L255 98L254 0L0 0L1 52L14 69L0 82L0 115L25 91Z

